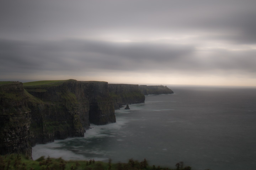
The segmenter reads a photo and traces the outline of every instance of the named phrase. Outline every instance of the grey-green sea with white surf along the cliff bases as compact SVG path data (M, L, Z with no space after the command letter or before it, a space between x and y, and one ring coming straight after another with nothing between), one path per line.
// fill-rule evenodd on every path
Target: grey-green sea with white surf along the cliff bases
M91 125L84 138L32 148L33 159L95 159L196 170L256 168L256 89L169 86L175 94L146 96L117 110L117 123Z

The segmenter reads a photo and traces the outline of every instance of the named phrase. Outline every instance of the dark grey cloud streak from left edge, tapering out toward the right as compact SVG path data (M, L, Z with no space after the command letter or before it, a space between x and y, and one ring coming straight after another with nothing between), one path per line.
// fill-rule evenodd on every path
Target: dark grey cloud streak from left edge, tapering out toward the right
M165 62L181 60L193 51L191 46L159 45L150 43L114 43L102 41L65 40L0 41L1 71L20 69L64 70L144 70L147 64L160 66ZM164 64L165 65L165 64ZM164 66L161 66L164 67Z

